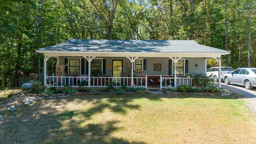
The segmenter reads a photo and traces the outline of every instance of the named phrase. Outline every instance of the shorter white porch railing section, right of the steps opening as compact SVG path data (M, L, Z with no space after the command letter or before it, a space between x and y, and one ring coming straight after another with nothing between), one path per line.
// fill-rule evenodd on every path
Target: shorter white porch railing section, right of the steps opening
M160 88L174 87L174 78L160 76ZM192 78L176 78L176 86L187 84L192 86Z

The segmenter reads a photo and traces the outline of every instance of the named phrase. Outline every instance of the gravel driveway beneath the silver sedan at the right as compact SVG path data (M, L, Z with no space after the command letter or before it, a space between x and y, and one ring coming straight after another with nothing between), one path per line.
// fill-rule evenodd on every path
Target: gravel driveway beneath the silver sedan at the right
M252 90L247 90L246 88L244 88L244 86L240 86L236 84L226 85L224 83L221 83L221 87L223 89L230 90L230 92L244 96L246 101L250 103L254 108L256 108L256 88L255 87Z

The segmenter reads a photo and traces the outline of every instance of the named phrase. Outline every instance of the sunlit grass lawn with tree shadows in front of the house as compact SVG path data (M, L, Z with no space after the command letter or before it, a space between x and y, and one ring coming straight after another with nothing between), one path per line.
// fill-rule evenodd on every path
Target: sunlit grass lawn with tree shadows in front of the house
M235 95L70 96L1 114L1 144L256 143L256 117Z

